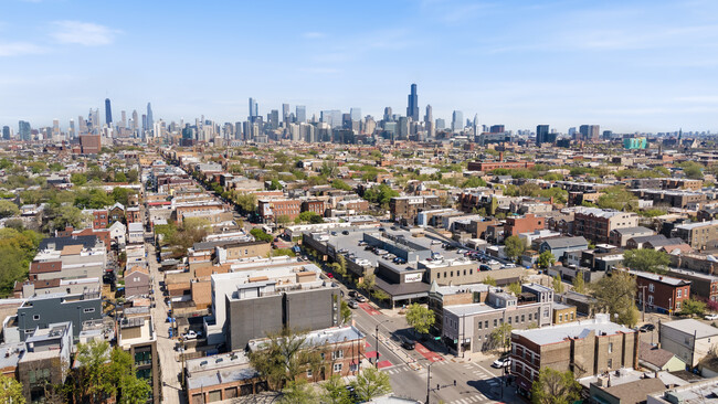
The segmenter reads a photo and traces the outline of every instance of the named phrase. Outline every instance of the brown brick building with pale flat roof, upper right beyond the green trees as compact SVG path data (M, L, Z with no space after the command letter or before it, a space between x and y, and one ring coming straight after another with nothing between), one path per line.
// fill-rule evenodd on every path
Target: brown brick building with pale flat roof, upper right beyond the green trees
M573 216L573 234L594 243L609 243L613 230L637 225L638 215L633 212L584 208L577 210Z

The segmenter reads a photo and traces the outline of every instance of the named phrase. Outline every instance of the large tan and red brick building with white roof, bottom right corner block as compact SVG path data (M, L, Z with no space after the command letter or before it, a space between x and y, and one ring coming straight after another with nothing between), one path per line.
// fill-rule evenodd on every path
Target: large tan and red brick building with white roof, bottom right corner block
M609 321L609 315L541 329L511 331L511 368L516 385L531 391L541 369L572 371L585 378L638 366L638 332Z

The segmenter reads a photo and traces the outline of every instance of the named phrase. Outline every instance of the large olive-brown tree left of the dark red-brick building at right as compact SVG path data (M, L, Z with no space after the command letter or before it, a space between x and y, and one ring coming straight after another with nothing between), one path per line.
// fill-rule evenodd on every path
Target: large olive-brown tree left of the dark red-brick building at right
M592 283L591 289L591 295L596 299L598 311L609 312L617 323L629 327L634 327L638 321L638 309L635 306L635 277L623 270L613 270L611 276L604 276L599 281Z

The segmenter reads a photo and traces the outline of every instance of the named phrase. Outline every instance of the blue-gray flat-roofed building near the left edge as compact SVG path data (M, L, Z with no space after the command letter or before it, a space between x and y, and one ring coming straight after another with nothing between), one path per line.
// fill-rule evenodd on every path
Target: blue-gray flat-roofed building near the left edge
M82 323L102 319L99 293L70 295L49 294L28 299L18 308L20 340L36 328L47 328L54 322L72 322L73 337L77 338Z

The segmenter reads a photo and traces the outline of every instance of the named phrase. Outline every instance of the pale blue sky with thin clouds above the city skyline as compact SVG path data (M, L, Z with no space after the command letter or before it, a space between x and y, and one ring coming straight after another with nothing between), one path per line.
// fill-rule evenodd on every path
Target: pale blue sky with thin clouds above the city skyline
M283 103L561 132L718 131L718 1L0 0L0 126Z

